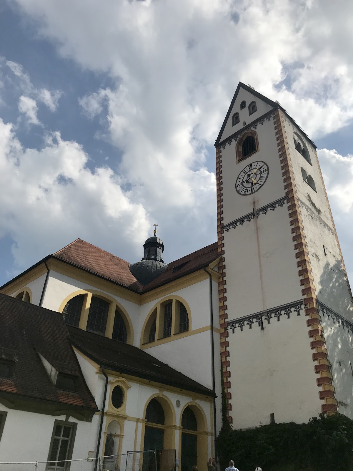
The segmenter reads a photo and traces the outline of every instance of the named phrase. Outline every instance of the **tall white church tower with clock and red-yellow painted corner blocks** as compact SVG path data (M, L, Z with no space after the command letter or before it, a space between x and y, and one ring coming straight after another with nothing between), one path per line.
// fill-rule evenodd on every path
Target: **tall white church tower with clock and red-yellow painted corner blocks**
M229 421L353 418L352 292L316 146L240 82L215 147Z

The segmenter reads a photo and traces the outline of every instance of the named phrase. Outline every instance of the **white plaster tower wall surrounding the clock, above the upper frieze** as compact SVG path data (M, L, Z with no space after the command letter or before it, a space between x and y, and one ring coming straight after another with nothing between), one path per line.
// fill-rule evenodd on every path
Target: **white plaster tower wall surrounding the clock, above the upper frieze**
M222 150L222 181L223 181L223 222L224 224L241 218L253 211L253 208L261 208L285 194L283 177L278 158L277 142L273 126L273 117L270 121L265 120L255 130L258 136L259 151L249 158L239 162L236 161L236 146L233 141ZM253 195L239 195L235 189L235 181L243 168L252 162L266 162L269 167L267 180Z

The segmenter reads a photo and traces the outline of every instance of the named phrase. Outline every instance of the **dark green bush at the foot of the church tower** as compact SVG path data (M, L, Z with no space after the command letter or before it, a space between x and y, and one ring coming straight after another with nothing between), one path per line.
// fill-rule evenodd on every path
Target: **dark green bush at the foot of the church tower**
M224 422L217 437L223 471L230 460L240 471L353 470L353 421L334 414L308 423L273 423L250 430L231 430Z

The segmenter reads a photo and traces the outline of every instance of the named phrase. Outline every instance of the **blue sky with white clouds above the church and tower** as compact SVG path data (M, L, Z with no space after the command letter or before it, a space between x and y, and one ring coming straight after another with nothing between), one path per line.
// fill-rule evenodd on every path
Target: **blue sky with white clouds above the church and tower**
M318 146L352 281L352 24L343 0L2 1L0 285L78 237L130 262L154 222L167 262L215 242L239 81Z

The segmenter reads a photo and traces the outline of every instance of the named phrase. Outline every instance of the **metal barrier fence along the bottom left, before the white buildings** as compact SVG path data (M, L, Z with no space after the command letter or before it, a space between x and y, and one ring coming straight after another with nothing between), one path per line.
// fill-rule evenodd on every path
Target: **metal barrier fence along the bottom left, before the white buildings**
M0 462L0 471L157 471L156 450L80 460Z

